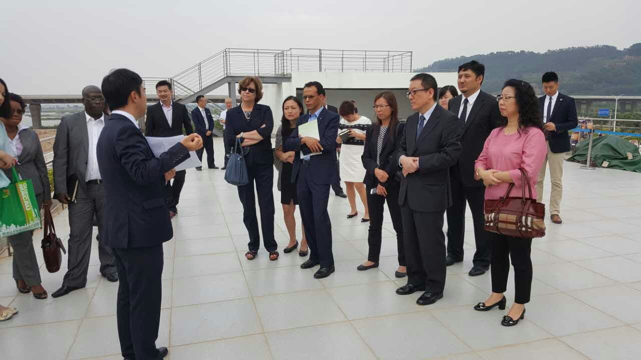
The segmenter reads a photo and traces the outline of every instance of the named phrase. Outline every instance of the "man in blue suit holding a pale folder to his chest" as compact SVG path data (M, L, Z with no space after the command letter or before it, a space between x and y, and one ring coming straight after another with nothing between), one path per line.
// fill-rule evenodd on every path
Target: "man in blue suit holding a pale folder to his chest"
M318 81L306 83L303 100L308 113L296 121L296 129L285 142L285 151L296 151L292 183L296 183L301 218L310 246L310 259L301 268L320 265L314 274L316 279L328 277L334 272L334 256L331 252L331 223L327 211L329 186L337 181L336 138L338 136L337 113L324 108L325 89ZM320 139L299 136L298 127L316 120ZM310 153L320 152L317 155Z

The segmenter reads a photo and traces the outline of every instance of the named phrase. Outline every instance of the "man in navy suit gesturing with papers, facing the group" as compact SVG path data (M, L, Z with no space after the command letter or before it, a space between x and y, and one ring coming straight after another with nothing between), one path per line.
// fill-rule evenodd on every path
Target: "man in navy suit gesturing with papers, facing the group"
M187 136L155 158L136 119L145 115L147 97L138 74L117 69L103 79L102 90L113 110L97 143L104 182L101 241L112 247L120 277L118 336L125 359L167 356L156 348L162 297L163 245L173 236L163 186L189 151L202 147L200 136Z

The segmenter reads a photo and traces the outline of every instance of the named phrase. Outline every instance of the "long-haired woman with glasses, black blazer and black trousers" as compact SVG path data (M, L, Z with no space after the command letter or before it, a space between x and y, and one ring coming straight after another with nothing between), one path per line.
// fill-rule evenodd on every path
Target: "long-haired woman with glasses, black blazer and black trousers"
M390 210L392 224L396 232L399 268L396 277L405 277L405 254L403 249L403 224L399 206L399 165L394 160L397 146L403 135L404 124L399 122L398 104L392 92L381 92L374 97L376 124L365 133L363 167L367 187L367 204L369 205L369 254L367 261L358 265L358 270L378 267L381 254L381 237L383 231L383 210L385 200Z

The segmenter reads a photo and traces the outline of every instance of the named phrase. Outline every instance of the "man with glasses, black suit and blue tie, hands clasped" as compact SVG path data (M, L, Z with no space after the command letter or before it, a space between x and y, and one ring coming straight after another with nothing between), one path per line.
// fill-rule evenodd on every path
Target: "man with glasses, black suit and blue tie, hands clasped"
M429 74L410 80L412 110L399 145L403 168L399 205L407 263L407 284L399 295L425 291L416 301L429 305L443 297L445 235L443 215L452 204L449 168L461 154L461 129L456 115L437 104L437 81Z

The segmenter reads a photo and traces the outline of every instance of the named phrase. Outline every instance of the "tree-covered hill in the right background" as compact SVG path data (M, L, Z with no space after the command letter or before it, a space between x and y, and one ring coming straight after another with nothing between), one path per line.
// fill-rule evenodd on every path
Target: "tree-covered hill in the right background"
M541 94L541 76L546 71L559 75L563 92L573 95L641 95L641 43L619 50L610 45L569 47L533 51L460 56L435 61L417 72L456 70L458 65L476 60L485 65L483 89L497 94L509 78L529 81ZM447 84L440 84L447 85ZM452 84L456 85L456 84Z

